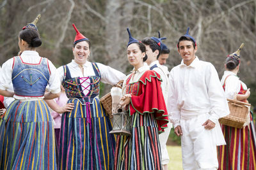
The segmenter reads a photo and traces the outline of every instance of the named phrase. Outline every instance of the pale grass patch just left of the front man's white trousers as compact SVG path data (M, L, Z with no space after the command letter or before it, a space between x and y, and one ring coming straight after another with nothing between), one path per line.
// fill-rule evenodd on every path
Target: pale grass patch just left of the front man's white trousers
M170 162L168 170L182 170L181 146L167 145Z

